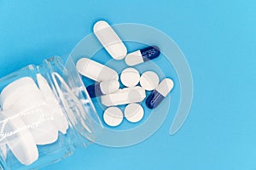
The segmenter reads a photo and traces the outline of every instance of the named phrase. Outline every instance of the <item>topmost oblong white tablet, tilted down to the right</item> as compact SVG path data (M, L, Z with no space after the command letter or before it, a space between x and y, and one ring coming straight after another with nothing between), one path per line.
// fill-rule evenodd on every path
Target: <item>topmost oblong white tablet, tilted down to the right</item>
M112 27L104 20L96 22L93 31L113 59L124 59L127 49Z

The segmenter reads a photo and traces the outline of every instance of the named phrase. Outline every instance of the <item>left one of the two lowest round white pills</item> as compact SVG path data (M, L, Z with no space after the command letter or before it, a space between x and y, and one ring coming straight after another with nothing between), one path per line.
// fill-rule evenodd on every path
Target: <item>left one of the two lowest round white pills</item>
M123 122L123 112L118 107L109 107L103 114L103 119L110 127L117 127Z

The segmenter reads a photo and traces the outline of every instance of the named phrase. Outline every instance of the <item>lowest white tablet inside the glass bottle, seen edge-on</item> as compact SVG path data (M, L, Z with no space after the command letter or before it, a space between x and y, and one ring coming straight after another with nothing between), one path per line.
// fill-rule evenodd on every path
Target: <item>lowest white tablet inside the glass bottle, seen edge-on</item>
M19 116L10 116L14 110L11 112L0 112L1 120L7 120L2 127L3 132L9 134L5 139L6 144L21 164L30 165L38 160L38 147L26 124Z

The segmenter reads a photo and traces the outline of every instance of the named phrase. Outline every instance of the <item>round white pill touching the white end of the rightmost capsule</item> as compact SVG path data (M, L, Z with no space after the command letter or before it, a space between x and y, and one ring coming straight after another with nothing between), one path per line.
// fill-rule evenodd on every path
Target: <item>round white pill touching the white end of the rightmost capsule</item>
M154 90L159 84L159 77L154 71L146 71L140 79L140 84L145 90Z

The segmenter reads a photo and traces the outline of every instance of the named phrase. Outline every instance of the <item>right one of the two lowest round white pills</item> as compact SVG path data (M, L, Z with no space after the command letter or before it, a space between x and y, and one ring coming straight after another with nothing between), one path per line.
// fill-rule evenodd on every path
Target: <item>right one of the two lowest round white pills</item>
M140 122L143 119L144 111L142 105L129 104L125 107L125 118L129 122Z

